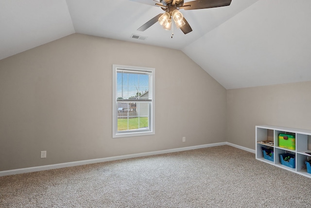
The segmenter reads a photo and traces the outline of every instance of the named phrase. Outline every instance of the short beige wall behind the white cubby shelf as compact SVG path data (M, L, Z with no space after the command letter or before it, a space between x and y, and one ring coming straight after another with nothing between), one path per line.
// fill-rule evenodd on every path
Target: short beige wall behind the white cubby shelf
M311 130L311 81L227 90L227 141L255 149L255 126Z

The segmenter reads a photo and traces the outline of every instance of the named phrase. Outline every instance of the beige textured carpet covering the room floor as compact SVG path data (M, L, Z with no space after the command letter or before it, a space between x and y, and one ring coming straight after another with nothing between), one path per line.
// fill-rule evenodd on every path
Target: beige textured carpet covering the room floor
M0 208L311 206L311 178L230 146L0 177Z

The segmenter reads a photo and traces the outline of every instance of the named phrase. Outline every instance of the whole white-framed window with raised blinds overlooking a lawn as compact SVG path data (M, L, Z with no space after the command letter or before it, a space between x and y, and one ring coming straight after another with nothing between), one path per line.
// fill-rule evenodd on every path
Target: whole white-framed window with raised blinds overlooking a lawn
M155 69L113 65L113 138L155 134Z

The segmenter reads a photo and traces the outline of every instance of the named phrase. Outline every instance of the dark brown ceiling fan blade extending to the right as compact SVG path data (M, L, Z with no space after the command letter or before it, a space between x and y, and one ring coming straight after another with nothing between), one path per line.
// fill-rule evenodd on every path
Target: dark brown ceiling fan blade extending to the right
M192 10L192 9L206 9L220 6L229 6L231 0L193 0L185 2L180 9Z

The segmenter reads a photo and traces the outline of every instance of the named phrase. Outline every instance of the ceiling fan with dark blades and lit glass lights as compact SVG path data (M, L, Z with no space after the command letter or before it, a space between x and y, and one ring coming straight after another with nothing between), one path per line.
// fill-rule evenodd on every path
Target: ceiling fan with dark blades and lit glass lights
M231 0L192 0L189 2L184 2L184 0L132 0L139 3L149 4L152 6L161 7L165 12L162 14L158 14L153 19L150 19L141 27L139 27L138 31L145 31L149 27L151 27L155 22L159 22L160 25L166 29L173 29L172 21L175 22L177 29L184 33L190 33L192 31L189 23L184 18L183 14L178 11L179 9L184 10L193 10L193 9L206 9L206 8L214 8L221 6L228 6L231 3Z

